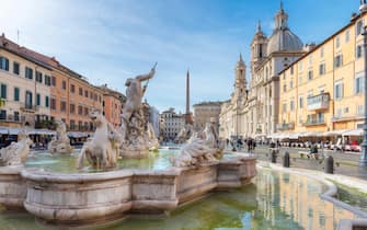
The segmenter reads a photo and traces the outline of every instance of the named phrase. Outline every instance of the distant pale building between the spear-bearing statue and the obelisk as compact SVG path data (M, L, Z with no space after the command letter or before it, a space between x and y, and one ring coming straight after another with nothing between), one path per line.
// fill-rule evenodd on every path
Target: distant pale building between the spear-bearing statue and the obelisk
M184 114L176 114L172 107L161 114L164 141L174 140L180 130L185 126L185 118Z

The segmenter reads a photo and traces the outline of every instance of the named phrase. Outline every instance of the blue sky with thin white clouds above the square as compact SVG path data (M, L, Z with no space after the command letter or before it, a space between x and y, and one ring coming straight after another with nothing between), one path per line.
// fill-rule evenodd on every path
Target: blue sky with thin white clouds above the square
M303 43L320 43L348 23L359 0L284 0L288 25ZM259 20L273 32L278 0L0 0L0 33L125 94L125 80L158 62L145 97L160 112L225 101L234 66ZM18 33L19 32L19 33ZM249 68L248 68L249 70ZM248 79L250 74L248 71Z

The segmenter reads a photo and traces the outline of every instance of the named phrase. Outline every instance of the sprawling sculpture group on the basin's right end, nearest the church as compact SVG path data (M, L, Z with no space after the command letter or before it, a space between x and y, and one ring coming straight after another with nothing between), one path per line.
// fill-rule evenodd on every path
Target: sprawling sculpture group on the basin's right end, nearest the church
M196 137L192 137L180 154L171 160L174 166L199 166L218 162L222 157L223 148L219 145L214 124L207 123L203 134L194 135Z

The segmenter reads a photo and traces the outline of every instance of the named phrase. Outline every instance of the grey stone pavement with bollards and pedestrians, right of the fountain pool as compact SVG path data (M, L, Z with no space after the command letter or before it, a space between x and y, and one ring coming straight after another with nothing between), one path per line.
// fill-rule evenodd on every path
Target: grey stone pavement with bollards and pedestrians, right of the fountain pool
M308 159L307 157L300 158L299 151L308 151L308 149L298 149L298 148L286 148L283 147L279 150L279 154L276 159L277 164L283 164L283 156L288 151L290 154L290 168L302 168L310 170L324 171L325 161L323 159ZM245 149L237 151L238 153L245 153ZM259 146L253 152L259 160L269 161L269 150L267 146ZM321 153L321 150L319 151ZM332 156L334 158L334 173L354 176L367 181L367 168L358 166L358 160L360 153L353 152L334 152L326 150L324 151L325 156Z

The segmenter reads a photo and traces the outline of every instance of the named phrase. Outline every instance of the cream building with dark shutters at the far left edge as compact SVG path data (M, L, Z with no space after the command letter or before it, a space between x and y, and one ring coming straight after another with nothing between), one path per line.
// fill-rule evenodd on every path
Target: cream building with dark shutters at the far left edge
M28 125L50 117L51 67L0 44L1 126Z

